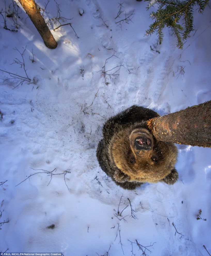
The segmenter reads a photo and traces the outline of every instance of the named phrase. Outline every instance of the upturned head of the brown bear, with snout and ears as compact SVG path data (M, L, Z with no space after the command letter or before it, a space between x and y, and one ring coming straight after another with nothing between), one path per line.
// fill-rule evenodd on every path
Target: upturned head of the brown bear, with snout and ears
M156 140L143 124L114 133L108 151L113 178L118 183L164 181L173 184L178 178L174 168L176 146Z

